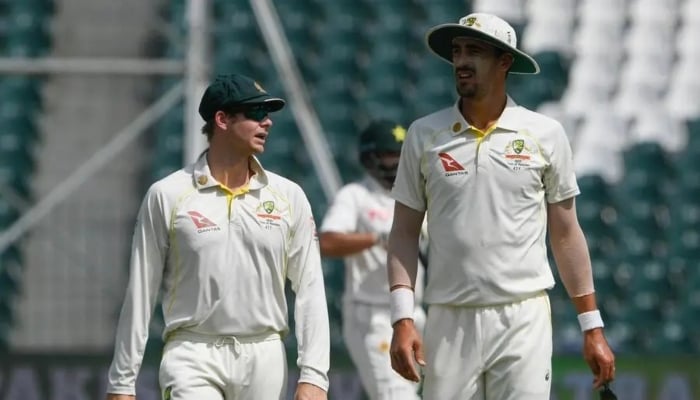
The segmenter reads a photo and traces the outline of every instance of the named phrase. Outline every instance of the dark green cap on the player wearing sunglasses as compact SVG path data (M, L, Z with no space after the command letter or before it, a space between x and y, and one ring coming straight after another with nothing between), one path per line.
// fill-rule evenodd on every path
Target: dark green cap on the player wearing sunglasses
M268 111L273 112L281 110L284 104L284 100L270 96L253 78L240 74L221 74L204 91L199 103L199 115L209 121L217 111L264 105Z

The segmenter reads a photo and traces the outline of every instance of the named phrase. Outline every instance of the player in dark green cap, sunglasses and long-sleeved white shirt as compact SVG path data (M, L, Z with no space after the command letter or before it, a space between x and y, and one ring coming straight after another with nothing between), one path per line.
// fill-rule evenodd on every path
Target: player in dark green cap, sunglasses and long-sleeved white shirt
M254 156L269 113L283 106L242 75L218 76L205 91L209 149L153 184L138 215L109 400L134 398L161 286L163 399L286 398L287 279L296 292L295 399L327 398L328 313L311 207L298 185Z

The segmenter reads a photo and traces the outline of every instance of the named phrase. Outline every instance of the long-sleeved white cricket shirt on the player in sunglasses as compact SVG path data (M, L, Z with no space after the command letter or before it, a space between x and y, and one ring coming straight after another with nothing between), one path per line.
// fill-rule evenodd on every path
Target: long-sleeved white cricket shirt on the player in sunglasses
M154 183L142 203L108 392L134 394L161 288L166 339L176 330L284 335L286 279L296 292L299 381L327 388L328 314L304 192L251 157L255 174L233 193L211 175L205 154Z

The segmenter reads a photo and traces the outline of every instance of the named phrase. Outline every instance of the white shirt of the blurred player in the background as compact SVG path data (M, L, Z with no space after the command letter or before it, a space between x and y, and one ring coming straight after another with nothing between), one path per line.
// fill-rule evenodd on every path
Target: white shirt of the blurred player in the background
M321 232L386 233L394 219L394 199L374 178L342 187L323 218ZM386 269L387 252L382 245L344 258L344 300L389 306L389 278ZM419 263L416 277L416 304L423 297L423 268Z

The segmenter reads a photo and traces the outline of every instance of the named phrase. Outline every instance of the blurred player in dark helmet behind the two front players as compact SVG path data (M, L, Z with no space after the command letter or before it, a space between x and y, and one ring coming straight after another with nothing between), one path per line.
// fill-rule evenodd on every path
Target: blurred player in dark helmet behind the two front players
M343 187L321 225L321 254L345 258L343 338L371 400L417 399L417 385L391 369L391 320L386 244L394 212L389 196L406 130L388 120L360 135L360 162L367 174ZM418 272L420 304L422 270ZM420 307L417 324L424 319Z

